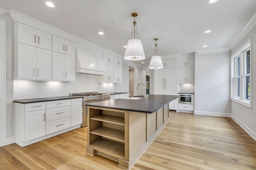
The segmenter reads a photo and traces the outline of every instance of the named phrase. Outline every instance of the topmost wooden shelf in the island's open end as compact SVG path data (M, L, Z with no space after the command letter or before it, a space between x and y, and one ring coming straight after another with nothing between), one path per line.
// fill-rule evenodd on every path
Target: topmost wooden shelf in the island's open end
M104 121L108 123L114 123L117 125L124 125L124 117L112 116L112 115L97 115L91 117L92 120Z

